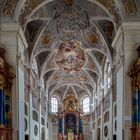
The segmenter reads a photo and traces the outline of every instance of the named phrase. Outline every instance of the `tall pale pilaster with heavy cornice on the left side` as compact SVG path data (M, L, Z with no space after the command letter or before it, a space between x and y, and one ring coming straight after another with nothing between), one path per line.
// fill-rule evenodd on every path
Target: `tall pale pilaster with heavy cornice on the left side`
M24 33L17 23L2 23L0 30L0 40L2 47L6 50L6 59L14 67L16 78L12 87L12 127L13 139L23 140L19 136L20 130L24 131L24 119L20 120L19 110L24 109L24 50L28 47ZM21 71L19 71L19 69ZM21 76L22 72L22 77ZM21 81L22 80L22 81ZM21 81L21 83L19 83ZM22 84L22 88L20 87ZM24 99L24 98L23 98ZM23 100L22 99L22 100ZM24 118L24 116L22 117ZM23 121L21 123L21 121Z

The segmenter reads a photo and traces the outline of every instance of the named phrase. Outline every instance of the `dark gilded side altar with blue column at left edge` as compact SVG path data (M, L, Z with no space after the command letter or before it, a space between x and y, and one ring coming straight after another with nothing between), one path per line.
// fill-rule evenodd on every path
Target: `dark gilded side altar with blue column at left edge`
M15 78L14 68L5 59L4 48L0 47L0 128L9 129L9 136L3 135L0 131L0 139L9 139L12 130L12 95L13 79ZM7 134L7 133L6 133Z

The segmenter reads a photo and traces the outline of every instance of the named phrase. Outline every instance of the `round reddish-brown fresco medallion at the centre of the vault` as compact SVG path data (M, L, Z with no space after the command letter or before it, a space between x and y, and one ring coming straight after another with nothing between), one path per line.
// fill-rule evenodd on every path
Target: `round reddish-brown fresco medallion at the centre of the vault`
M86 64L86 54L80 42L63 42L55 57L56 64L67 72L79 71Z

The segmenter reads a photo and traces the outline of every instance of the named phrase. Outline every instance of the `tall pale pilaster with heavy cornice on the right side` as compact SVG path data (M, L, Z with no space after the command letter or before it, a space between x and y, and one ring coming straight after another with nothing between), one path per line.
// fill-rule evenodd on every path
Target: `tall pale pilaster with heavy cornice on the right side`
M116 87L118 86L116 90L118 104L117 115L119 116L117 117L117 122L122 121L120 122L122 125L119 125L121 128L117 129L122 134L119 140L123 138L125 140L131 139L132 93L128 72L137 58L136 49L139 44L140 22L123 22L112 43L115 51L113 64L116 71ZM120 85L121 82L123 86Z

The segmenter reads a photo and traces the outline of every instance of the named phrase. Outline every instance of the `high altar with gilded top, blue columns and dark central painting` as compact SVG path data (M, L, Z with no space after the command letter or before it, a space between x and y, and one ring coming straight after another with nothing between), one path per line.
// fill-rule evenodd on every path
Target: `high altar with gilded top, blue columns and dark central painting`
M78 100L67 96L64 100L64 109L59 114L58 140L84 140L82 111Z

